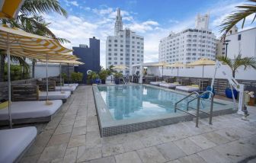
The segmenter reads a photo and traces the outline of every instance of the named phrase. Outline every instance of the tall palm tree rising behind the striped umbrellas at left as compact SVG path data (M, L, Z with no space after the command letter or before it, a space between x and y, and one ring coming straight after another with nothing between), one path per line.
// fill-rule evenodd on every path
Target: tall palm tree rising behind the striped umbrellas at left
M47 25L38 14L50 14L56 12L67 17L67 12L59 4L58 0L25 0L24 5L22 5L21 14L18 15L17 19L11 20L1 20L2 24L9 24L11 27L19 27L32 34L39 34L45 37L51 37L57 39L60 42L69 42L68 40L56 37L53 32L47 27ZM32 16L31 16L32 15ZM2 53L2 52L0 52ZM22 60L21 57L11 56L11 59ZM25 65L25 61L22 65ZM34 66L34 61L32 61L32 66ZM3 81L5 72L5 55L0 55L0 82ZM34 68L32 68L34 70ZM32 72L34 74L34 72Z

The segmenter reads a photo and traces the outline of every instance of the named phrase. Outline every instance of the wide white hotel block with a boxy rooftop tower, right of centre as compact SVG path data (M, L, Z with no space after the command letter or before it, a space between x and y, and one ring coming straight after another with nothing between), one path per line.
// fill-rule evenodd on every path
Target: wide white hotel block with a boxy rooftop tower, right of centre
M200 58L216 59L216 36L209 26L209 14L197 15L196 27L169 34L160 40L159 62L194 62Z

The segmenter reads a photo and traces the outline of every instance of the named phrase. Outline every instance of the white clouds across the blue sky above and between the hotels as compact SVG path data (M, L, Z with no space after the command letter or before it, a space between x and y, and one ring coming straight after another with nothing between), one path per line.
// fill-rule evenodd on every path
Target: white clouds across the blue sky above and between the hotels
M69 2L69 5L74 5ZM204 14L207 11L210 12L210 28L213 32L219 36L219 24L226 17L234 11L236 5L241 3L231 3L225 1L217 3L201 11L200 14ZM81 5L82 6L82 5ZM79 6L79 8L81 8ZM63 37L71 41L66 43L65 46L72 48L72 46L78 46L79 44L88 44L88 38L96 37L101 40L101 65L105 66L105 48L107 36L114 34L114 20L117 15L117 8L109 8L101 5L99 8L82 7L86 11L91 11L90 15L75 16L70 14L69 18L62 18L56 15L45 15L46 22L52 22L50 29L58 37ZM144 37L144 61L156 62L158 61L158 44L163 37L167 37L168 34L173 32L180 32L187 27L194 27L194 20L197 15L191 15L189 18L183 18L180 20L169 19L169 27L164 27L155 20L138 21L139 14L133 11L121 10L123 17L124 27L130 27L131 30L136 31L137 34ZM252 17L249 17L246 21L246 27L251 27ZM240 26L241 27L241 26Z

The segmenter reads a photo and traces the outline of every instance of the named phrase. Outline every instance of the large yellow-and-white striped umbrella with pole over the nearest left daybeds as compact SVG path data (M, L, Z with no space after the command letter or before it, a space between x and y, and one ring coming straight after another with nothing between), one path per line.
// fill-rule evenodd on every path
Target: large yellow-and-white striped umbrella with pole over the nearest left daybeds
M57 40L53 40L46 37L40 37L35 34L30 34L24 30L18 28L0 27L0 49L6 50L8 59L8 116L9 116L9 126L12 128L11 119L11 77L10 77L10 55L11 53L38 53L36 56L30 58L37 59L40 54L46 54L47 56L51 54L58 53L69 53L72 50L63 47ZM59 54L61 55L61 54ZM47 67L47 62L46 62ZM47 69L46 69L47 71ZM48 83L48 78L46 78L46 85ZM48 87L47 87L48 92Z

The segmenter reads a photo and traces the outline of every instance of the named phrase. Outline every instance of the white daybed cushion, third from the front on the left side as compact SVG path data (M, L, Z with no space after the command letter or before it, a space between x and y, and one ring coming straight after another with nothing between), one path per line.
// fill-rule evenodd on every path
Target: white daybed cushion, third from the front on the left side
M63 93L62 93L63 92ZM49 100L64 100L67 99L71 91L48 91L48 99ZM46 100L46 91L40 91L39 100Z

